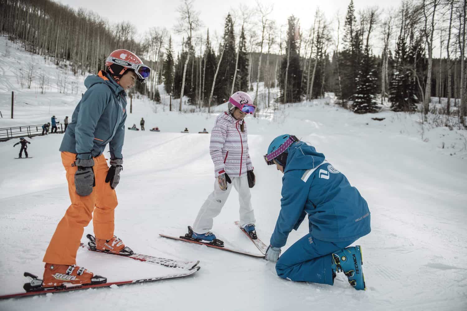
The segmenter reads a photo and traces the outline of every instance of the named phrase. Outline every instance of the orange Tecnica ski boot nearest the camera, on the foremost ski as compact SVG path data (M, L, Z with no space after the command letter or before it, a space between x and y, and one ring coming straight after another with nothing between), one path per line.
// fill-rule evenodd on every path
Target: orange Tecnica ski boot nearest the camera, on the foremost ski
M42 287L77 286L106 283L107 278L95 276L83 267L46 263Z

